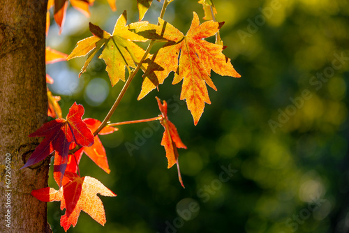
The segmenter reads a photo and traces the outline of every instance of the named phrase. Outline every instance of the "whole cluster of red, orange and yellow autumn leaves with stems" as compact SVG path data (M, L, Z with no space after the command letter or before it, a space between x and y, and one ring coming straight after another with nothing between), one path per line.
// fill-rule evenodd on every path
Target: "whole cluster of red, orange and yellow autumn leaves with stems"
M172 84L177 84L183 80L180 98L186 100L188 110L191 111L196 125L204 111L205 103L211 103L206 84L216 90L211 80L211 70L219 75L232 77L240 77L240 75L233 68L230 59L222 53L225 47L223 47L221 40L217 39L216 43L209 43L204 40L204 38L214 35L217 38L219 29L223 26L223 23L214 20L216 11L213 3L211 1L209 3L199 1L205 10L205 18L209 21L200 24L199 17L194 12L191 27L184 35L162 19L165 8L171 1L164 1L158 24L141 21L151 5L151 0L138 0L139 22L127 24L127 15L124 11L117 20L112 34L90 23L89 29L93 36L77 42L75 49L69 55L47 47L46 62L52 63L87 56L87 60L80 71L81 75L98 50L104 47L99 58L106 63L106 70L112 86L117 84L119 80L126 81L125 69L127 68L128 79L124 86L126 90L135 73L140 69L143 70L144 80L138 100L156 89L159 84L163 84L165 78L171 72L174 72ZM108 2L112 10L116 10L115 1ZM88 16L89 6L94 3L94 0L70 0L70 3ZM47 10L52 6L54 6L54 20L61 28L64 23L68 1L50 0ZM208 8L210 11L208 11ZM209 17L209 13L211 13L211 17ZM47 14L49 15L49 11L47 11ZM145 43L149 40L150 43L146 51L134 43L135 41ZM151 46L157 40L165 41L165 44L154 54L149 54ZM47 82L53 82L48 75ZM49 100L47 114L53 118L57 117L57 119L44 123L36 132L29 135L30 137L45 138L36 147L36 150L22 168L34 165L54 153L54 180L57 182L59 190L47 187L33 190L31 194L38 200L45 202L61 202L61 209L66 209L64 216L61 216L61 226L64 227L64 230L68 230L70 225L76 225L80 211L85 211L101 225L105 223L103 204L96 194L100 193L110 197L116 195L103 186L100 181L89 176L81 177L78 165L82 154L85 153L96 165L110 173L107 155L98 135L117 131L117 128L112 126L135 123L135 121L126 121L107 125L112 112L124 95L123 91L112 106L110 114L101 122L97 119L82 119L84 107L76 103L70 107L66 119L63 119L58 103L59 96L52 96L52 93L47 89ZM159 98L156 98L156 100L161 115L152 119L138 120L137 122L150 120L161 122L165 128L161 145L165 147L168 168L177 164L179 181L181 186L184 187L179 171L177 148L186 149L186 145L181 142L177 128L168 119L167 103L165 100L161 102Z

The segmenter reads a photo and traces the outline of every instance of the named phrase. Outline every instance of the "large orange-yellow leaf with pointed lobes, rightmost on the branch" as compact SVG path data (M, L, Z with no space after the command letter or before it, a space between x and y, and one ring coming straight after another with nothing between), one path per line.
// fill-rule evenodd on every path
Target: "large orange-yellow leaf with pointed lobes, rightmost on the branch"
M200 24L198 15L195 12L193 14L193 22L186 36L168 22L158 19L156 33L169 41L151 58L151 63L143 75L142 91L138 99L146 96L158 84L162 84L168 74L174 71L176 75L172 84L184 79L180 98L186 99L188 110L191 111L196 125L204 111L205 103L211 103L206 84L216 90L210 77L211 70L219 75L240 75L233 68L230 59L222 53L223 46L203 40L214 36L223 23L210 20Z

